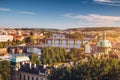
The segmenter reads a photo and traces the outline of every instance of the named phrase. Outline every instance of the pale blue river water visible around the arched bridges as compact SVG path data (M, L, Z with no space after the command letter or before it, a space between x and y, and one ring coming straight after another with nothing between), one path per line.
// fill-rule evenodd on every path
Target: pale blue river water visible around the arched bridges
M77 40L76 41L76 44L74 44L74 40L73 39L69 39L69 45L66 43L66 37L64 35L62 35L62 38L64 38L62 40L62 44L59 45L59 40L61 38L61 35L56 35L56 34L53 34L52 38L55 39L54 41L54 47L69 47L69 49L66 49L66 51L69 51L70 48L80 48L81 47L81 41L80 40ZM85 42L88 42L88 41L85 41ZM44 44L45 46L52 46L52 40L48 40L47 44ZM32 48L32 51L30 51L31 49L28 49L28 52L34 52L34 53L39 53L41 54L41 49L35 49L35 48Z

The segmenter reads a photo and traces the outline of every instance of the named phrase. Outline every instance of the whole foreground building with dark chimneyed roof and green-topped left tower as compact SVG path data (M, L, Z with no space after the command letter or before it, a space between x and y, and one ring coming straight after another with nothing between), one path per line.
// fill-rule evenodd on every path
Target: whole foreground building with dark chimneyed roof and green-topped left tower
M16 56L11 62L11 80L47 80L45 66L31 64L28 56Z

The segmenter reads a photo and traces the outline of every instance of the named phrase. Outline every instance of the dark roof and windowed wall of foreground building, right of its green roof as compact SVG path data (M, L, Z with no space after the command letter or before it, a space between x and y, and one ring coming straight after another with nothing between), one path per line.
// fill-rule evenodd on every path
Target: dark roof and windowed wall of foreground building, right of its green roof
M36 64L22 65L18 75L17 80L47 80L47 70L44 66Z

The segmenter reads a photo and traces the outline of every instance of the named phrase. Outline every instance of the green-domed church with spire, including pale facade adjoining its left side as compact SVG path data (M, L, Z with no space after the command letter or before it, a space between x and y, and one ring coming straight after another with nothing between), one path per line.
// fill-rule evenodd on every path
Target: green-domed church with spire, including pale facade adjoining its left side
M106 55L112 49L112 44L109 40L106 39L106 33L103 34L102 38L94 45L90 44L89 42L85 45L85 53L91 54L101 54Z

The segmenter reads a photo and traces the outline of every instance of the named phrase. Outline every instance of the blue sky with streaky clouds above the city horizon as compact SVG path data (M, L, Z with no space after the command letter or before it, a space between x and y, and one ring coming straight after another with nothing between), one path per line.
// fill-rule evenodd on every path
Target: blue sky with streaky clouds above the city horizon
M0 0L0 27L120 27L120 0Z

